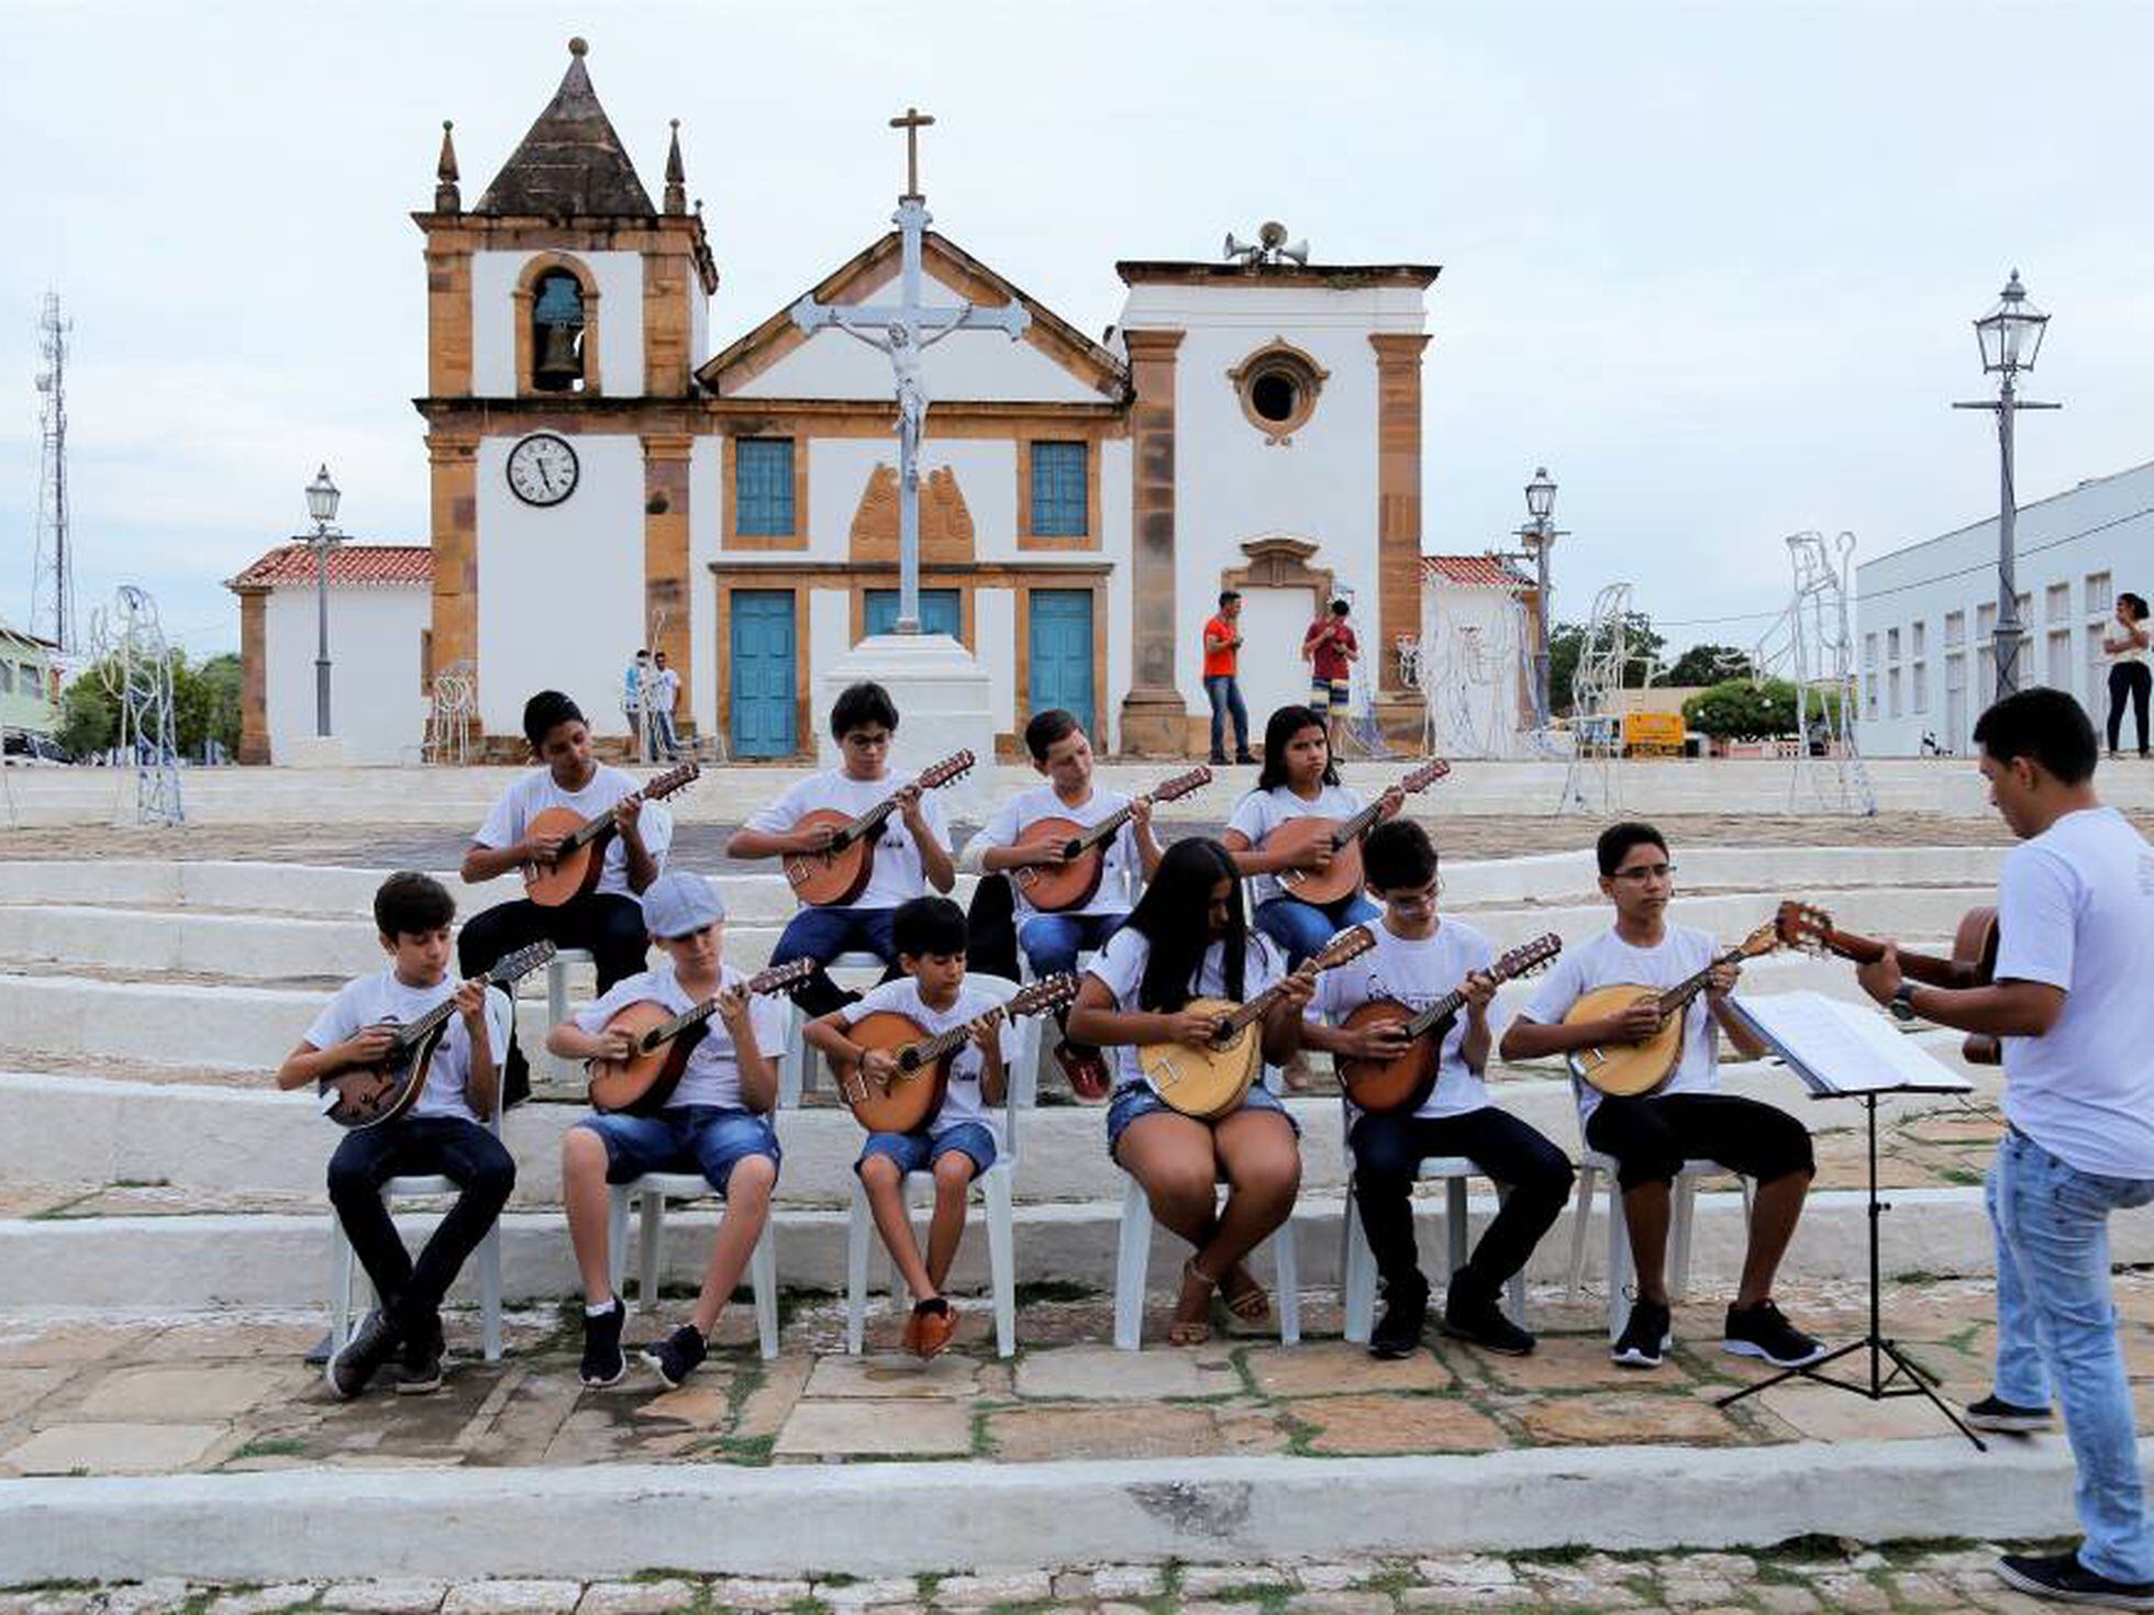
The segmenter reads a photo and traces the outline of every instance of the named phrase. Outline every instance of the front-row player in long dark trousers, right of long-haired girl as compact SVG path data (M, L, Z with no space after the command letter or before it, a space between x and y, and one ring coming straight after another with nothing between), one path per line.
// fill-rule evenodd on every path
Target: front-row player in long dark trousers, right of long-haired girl
M1370 924L1376 945L1318 978L1312 1019L1301 1029L1310 1049L1340 1059L1387 1064L1415 1053L1407 1021L1372 1016L1351 1027L1368 1003L1424 1010L1454 988L1465 1012L1422 1031L1422 1059L1432 1068L1419 1103L1363 1111L1346 1094L1346 1143L1353 1191L1368 1249L1383 1279L1385 1311L1370 1335L1370 1357L1411 1357L1428 1316L1428 1279L1413 1249L1413 1178L1426 1156L1467 1156L1508 1193L1467 1264L1452 1275L1443 1301L1445 1333L1523 1357L1534 1337L1503 1316L1497 1296L1525 1266L1540 1236L1555 1227L1570 1199L1570 1161L1536 1128L1488 1103L1488 1003L1497 980L1495 947L1471 926L1437 917L1437 848L1407 818L1376 825L1361 848L1370 896L1383 919ZM1316 1014L1323 1021L1314 1019Z

